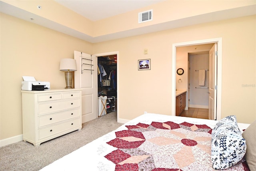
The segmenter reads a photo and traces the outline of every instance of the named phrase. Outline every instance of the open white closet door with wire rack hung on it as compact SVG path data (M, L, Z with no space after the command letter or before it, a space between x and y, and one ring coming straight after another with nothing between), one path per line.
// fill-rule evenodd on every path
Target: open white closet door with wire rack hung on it
M74 51L77 71L74 73L75 88L82 89L82 123L97 115L97 60L96 56Z

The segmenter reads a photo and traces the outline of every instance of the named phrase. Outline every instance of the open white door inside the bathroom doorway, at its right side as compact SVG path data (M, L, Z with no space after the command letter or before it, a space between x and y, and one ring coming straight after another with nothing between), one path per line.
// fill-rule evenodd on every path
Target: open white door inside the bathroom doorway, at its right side
M217 43L215 43L209 52L209 119L216 119L216 99L217 90Z

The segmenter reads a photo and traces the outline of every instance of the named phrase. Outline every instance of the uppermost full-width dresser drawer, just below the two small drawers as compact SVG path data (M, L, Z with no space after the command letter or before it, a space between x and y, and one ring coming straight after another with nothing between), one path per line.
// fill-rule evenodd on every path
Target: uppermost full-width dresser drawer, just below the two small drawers
M38 104L38 114L53 113L80 106L80 99Z

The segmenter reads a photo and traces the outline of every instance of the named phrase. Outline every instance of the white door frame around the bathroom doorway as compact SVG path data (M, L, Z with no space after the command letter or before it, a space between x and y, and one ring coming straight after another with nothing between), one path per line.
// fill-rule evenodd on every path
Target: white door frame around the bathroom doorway
M191 46L198 44L209 44L209 43L217 43L217 51L218 51L218 60L217 60L217 68L215 70L218 71L217 75L217 104L216 104L216 119L221 119L221 94L222 94L222 38L212 38L205 40L195 40L191 42L181 42L172 44L172 115L175 116L176 106L176 48L180 46Z

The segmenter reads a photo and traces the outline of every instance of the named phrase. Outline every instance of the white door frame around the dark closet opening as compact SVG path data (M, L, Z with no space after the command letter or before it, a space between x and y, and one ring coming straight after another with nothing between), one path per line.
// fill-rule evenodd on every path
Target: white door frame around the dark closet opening
M96 56L96 59L97 59L97 65L98 65L98 57L99 56L108 56L108 55L116 55L116 58L117 58L117 62L116 62L116 74L117 74L117 82L116 82L116 95L117 95L117 97L119 97L119 74L118 74L118 66L119 66L119 51L115 51L115 52L106 52L106 53L101 53L101 54L94 54L95 56ZM98 81L96 82L96 86L97 86L97 94L96 94L96 96L98 97ZM117 100L116 100L117 101ZM96 115L97 115L97 117L98 117L98 99L97 99L97 102L96 102L96 104L97 104L97 113L96 113ZM116 105L116 113L117 113L117 122L119 121L119 103L117 103L117 105Z

